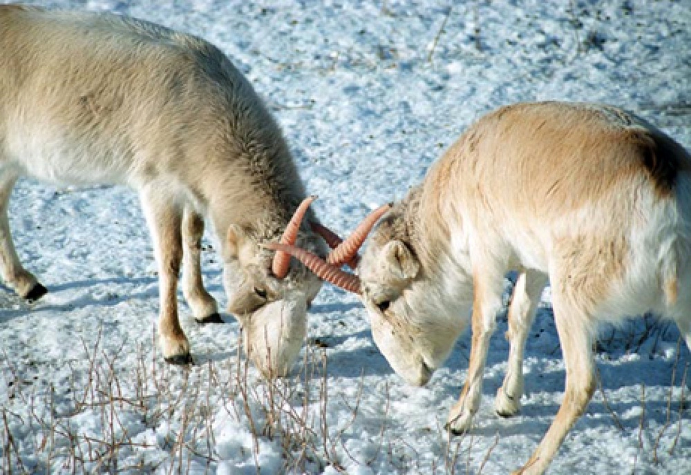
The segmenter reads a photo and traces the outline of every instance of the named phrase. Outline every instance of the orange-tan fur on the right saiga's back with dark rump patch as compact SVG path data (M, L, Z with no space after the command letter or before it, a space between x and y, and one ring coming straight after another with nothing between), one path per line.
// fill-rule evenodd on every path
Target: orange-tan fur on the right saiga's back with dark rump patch
M645 206L643 197L632 201L622 186L670 197L678 173L691 168L681 152L668 137L614 108L552 102L500 108L471 126L430 169L419 226L433 236L419 242L448 242L449 221L480 234L499 231L493 238L508 246L520 229L571 269L569 289L593 309L626 265L622 223ZM516 262L522 252L513 249ZM536 262L524 264L547 266L547 255L532 258Z

